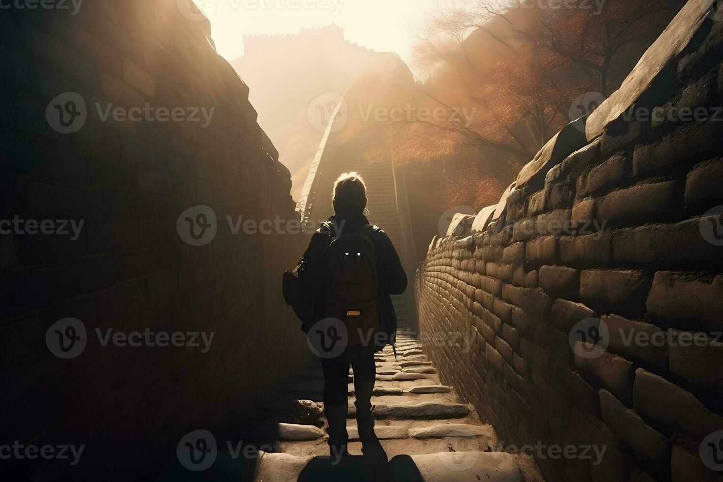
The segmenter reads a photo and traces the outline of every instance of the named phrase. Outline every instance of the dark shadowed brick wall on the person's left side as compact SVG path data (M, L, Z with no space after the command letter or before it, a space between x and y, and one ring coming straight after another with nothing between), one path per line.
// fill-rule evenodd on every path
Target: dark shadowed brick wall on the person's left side
M307 240L234 235L226 223L292 219L294 202L249 89L215 52L209 28L181 15L176 0L0 13L0 219L84 222L76 239L0 236L0 432L24 444L86 444L83 478L142 478L187 431L240 427L252 415L244 410L310 354L280 293L283 269ZM65 92L87 105L71 134L46 118ZM208 126L103 121L96 103L215 112ZM218 217L203 246L176 230L194 205ZM84 324L87 344L61 359L46 332L66 317ZM96 328L215 337L207 353L103 348ZM25 468L40 478L68 468L32 462Z

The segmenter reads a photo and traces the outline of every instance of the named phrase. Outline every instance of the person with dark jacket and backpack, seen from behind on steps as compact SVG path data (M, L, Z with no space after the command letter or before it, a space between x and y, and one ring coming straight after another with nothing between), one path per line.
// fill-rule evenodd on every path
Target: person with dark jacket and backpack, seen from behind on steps
M367 188L358 173L339 176L334 184L333 205L335 215L322 223L299 263L303 271L299 275L301 291L307 293L299 298L308 303L304 306L306 312L300 313L298 303L290 304L302 319L302 329L309 339L320 336L319 343L325 347L328 342L331 347L341 340L341 346L326 356L320 353L330 455L348 455L346 413L351 365L362 450L364 455L386 462L374 433L374 353L387 344L393 345L396 314L389 295L406 290L406 274L389 237L377 226L369 225L364 216Z

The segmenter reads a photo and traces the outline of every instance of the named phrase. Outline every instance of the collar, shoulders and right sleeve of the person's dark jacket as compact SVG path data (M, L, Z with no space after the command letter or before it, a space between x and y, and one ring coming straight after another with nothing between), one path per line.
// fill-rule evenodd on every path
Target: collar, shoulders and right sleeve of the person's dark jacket
M332 216L328 219L328 223L338 228L338 232L332 233L332 236L340 233L353 233L357 231L361 226L369 224L369 220L364 215L354 216ZM304 258L314 256L310 251L315 246L320 244L326 244L329 238L328 231L322 225L321 228L317 229L314 233L312 241L309 244L307 252L304 253ZM372 243L374 244L375 250L377 251L377 278L379 280L379 304L380 304L380 327L383 333L388 337L391 337L397 330L397 314L394 311L394 306L390 298L391 295L398 295L404 293L406 290L407 279L404 268L402 267L401 261L397 250L394 248L392 241L384 231L377 230L372 233ZM391 343L391 342L390 342Z

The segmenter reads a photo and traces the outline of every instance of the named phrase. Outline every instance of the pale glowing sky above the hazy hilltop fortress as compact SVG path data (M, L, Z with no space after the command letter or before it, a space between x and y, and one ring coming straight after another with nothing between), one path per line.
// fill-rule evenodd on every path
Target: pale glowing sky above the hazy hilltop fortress
M210 17L218 53L243 55L244 35L299 33L335 22L346 40L395 51L409 62L413 29L435 10L459 0L194 0Z

